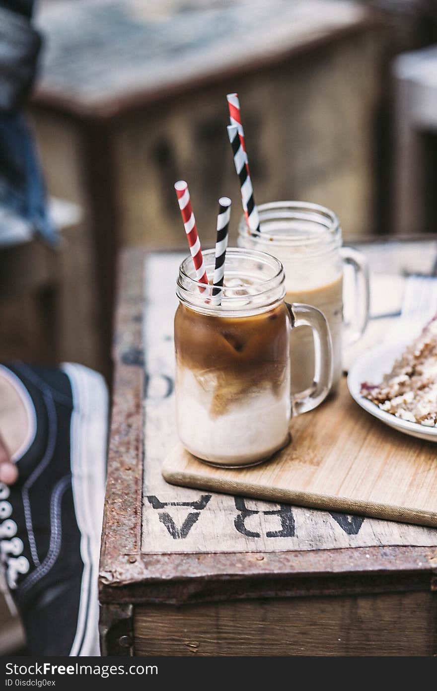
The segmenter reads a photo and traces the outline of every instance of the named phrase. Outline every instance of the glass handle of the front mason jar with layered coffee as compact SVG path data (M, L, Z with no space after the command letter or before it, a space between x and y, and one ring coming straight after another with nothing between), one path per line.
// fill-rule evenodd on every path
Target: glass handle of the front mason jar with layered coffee
M316 307L301 303L286 303L291 328L309 326L313 330L315 374L313 386L291 397L292 414L300 415L317 408L326 399L333 383L333 343L324 315Z

